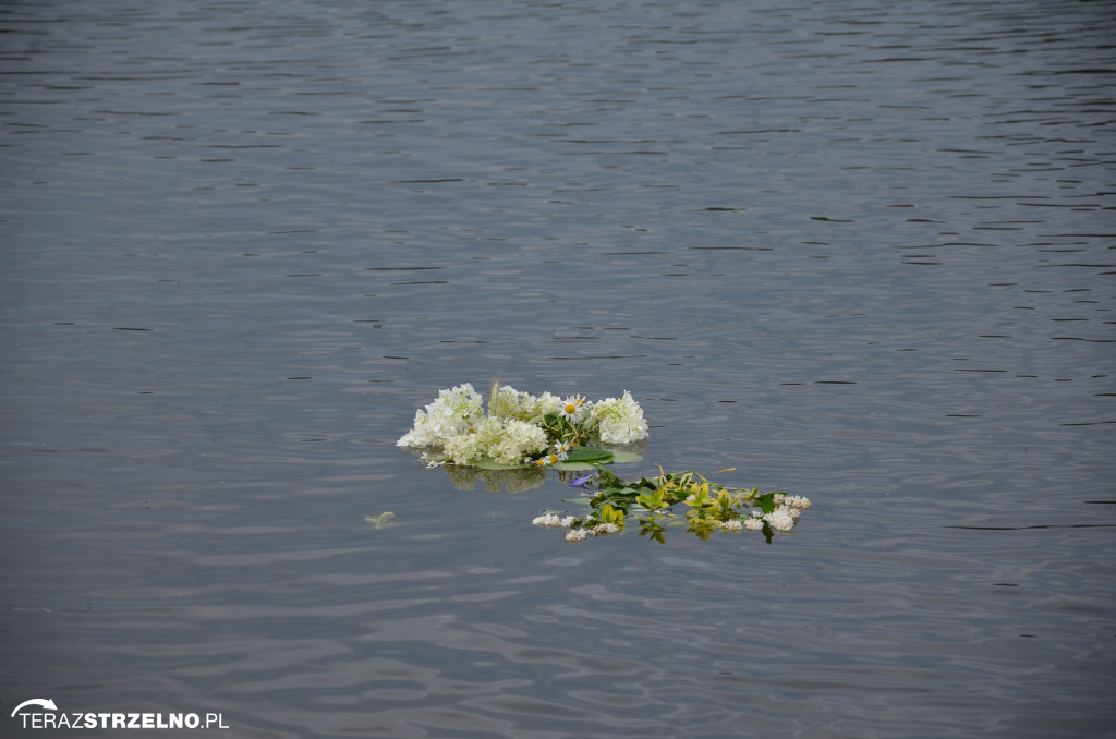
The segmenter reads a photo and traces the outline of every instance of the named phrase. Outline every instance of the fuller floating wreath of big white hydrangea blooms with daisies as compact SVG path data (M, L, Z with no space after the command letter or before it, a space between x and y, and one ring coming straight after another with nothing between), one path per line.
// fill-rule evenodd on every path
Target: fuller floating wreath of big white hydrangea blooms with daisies
M480 393L466 383L441 391L425 410L416 411L414 426L395 443L437 450L454 464L481 459L522 464L537 459L546 466L566 459L569 451L568 444L548 435L546 419L559 416L577 424L578 433L598 438L602 443L623 444L647 438L643 409L628 392L619 400L587 403L580 396L536 396L511 385L493 385L485 413ZM551 442L554 450L541 457Z

